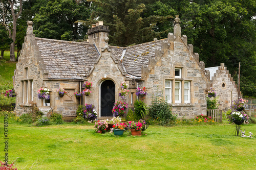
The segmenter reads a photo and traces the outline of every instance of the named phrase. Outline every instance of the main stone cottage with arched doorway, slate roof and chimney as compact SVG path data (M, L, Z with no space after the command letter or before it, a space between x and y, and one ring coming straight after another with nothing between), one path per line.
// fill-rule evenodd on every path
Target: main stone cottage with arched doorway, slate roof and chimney
M145 87L145 103L151 104L155 95L166 96L178 116L194 117L206 114L206 93L209 78L204 62L187 44L181 34L180 19L175 18L174 33L165 39L119 47L108 44L109 27L99 21L88 30L88 42L37 38L28 21L27 35L13 77L17 92L15 111L27 112L31 103L42 111L53 110L63 117L73 118L79 104L93 104L99 117L112 116L116 100L133 107L136 88ZM82 84L92 82L92 93L82 100L74 92ZM129 85L126 100L119 96L121 83ZM50 100L37 98L40 87L50 89ZM57 89L65 89L62 98Z

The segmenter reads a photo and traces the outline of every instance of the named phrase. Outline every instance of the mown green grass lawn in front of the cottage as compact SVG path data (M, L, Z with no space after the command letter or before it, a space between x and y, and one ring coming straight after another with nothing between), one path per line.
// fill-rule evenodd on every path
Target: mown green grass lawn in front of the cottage
M256 125L242 129L256 133ZM254 169L255 135L237 137L233 130L234 125L150 126L141 137L117 137L95 133L92 124L38 128L10 118L8 155L18 169Z

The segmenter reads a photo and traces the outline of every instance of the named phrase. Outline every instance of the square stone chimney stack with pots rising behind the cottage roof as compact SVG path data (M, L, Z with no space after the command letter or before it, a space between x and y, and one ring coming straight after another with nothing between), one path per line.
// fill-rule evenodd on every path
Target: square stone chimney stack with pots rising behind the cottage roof
M105 38L109 37L109 26L103 26L103 21L97 22L91 29L88 29L87 35L90 44L95 44L97 48L105 46Z

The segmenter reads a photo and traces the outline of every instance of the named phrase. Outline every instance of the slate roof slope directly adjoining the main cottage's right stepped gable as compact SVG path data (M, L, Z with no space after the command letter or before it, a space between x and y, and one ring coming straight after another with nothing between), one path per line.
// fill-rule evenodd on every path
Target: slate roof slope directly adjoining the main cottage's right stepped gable
M123 64L127 73L133 76L141 77L142 65L148 66L148 59L155 56L156 48L161 48L162 40L126 47L126 52L123 57Z

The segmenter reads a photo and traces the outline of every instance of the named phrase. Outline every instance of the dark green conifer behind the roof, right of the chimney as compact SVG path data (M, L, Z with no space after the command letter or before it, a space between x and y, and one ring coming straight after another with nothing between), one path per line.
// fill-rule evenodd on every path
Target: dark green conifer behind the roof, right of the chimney
M160 32L158 24L168 22L172 16L151 15L144 16L146 5L138 0L91 0L93 12L90 21L95 18L103 20L104 25L110 27L110 43L112 45L127 46L152 41L159 38L162 32L170 31L169 28Z

